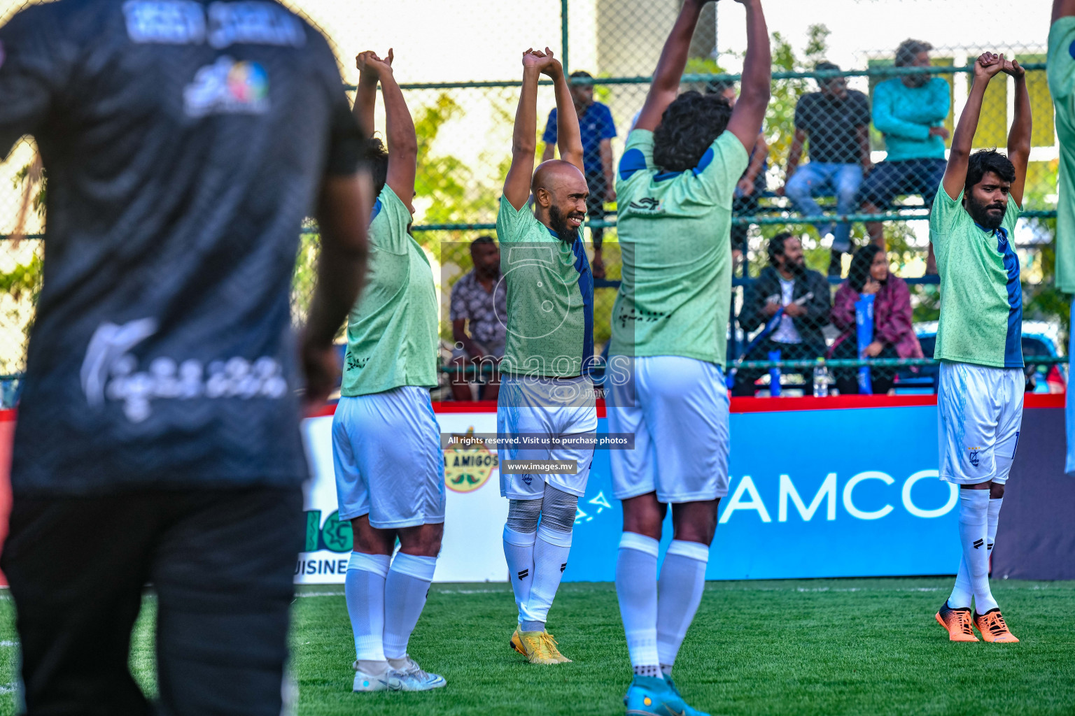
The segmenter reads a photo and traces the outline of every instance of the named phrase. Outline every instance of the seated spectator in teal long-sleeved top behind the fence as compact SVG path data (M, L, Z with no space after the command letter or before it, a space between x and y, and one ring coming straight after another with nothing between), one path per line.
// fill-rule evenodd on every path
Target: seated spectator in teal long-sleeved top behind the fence
M895 50L895 67L930 67L933 46L905 40ZM929 74L908 74L879 83L874 89L874 127L885 134L888 156L874 166L862 182L860 199L866 214L887 211L901 194L921 194L927 207L933 205L944 176L943 127L951 108L948 83ZM885 248L885 233L878 221L866 223L870 238ZM936 273L930 248L927 273Z

